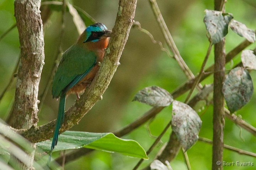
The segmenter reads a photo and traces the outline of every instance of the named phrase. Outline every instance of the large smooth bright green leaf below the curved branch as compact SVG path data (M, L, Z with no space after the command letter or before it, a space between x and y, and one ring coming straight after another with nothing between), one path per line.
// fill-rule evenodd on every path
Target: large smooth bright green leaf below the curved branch
M37 147L45 152L49 152L51 144L52 141L47 140L37 143ZM53 151L78 149L81 147L148 159L145 150L138 142L118 138L113 133L66 131L59 135L58 144Z

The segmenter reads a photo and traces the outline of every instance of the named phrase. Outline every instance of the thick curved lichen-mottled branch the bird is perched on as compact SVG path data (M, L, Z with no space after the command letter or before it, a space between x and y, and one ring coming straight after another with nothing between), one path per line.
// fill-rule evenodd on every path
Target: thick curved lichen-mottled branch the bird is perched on
M76 125L92 106L102 98L102 94L106 91L114 72L119 66L119 59L133 23L136 4L137 0L119 1L116 23L112 30L112 37L106 49L102 66L92 81L91 86L81 98L66 111L65 121L62 128L60 128L60 132L64 132ZM32 126L30 129L18 130L18 132L31 142L44 141L52 137L55 121L56 120L53 120L39 127Z

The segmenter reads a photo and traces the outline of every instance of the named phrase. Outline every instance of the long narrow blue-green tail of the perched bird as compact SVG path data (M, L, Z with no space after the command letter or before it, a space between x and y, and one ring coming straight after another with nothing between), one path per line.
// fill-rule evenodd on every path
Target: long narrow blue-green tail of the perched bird
M52 141L52 147L50 150L50 155L48 158L48 166L50 167L50 160L51 160L51 156L52 156L52 151L54 149L54 147L57 145L58 142L58 136L59 136L59 129L62 126L63 122L64 122L64 111L65 111L65 101L66 101L66 94L62 94L60 96L60 101L59 101L59 110L58 110L58 116L57 116L57 120L56 120L56 124L55 124L55 131L53 134L53 141Z

